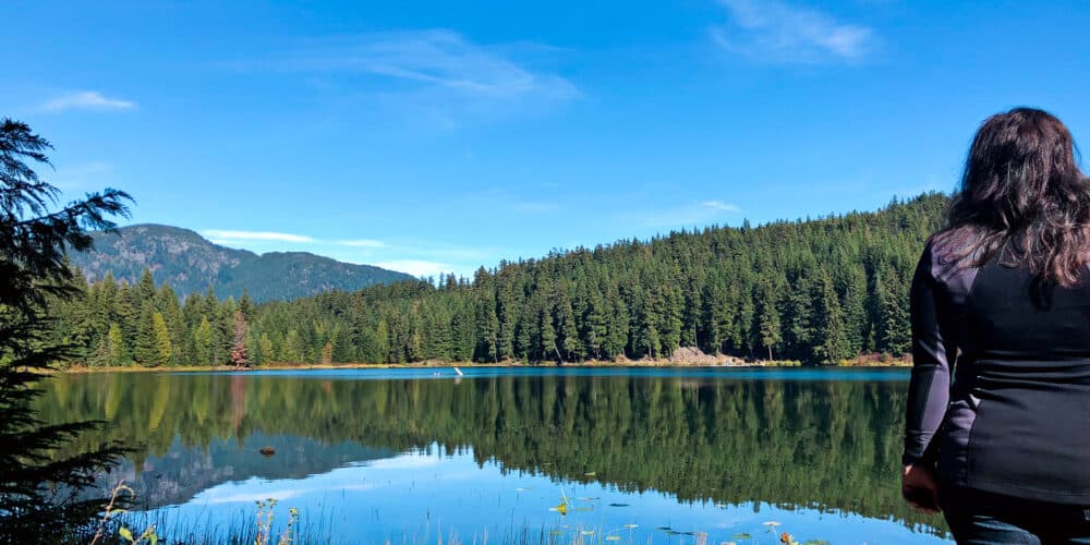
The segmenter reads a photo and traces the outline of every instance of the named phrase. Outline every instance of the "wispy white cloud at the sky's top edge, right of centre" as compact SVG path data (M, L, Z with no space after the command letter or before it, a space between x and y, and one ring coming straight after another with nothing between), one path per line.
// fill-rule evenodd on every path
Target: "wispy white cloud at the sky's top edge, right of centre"
M779 0L719 0L730 24L712 28L723 48L760 62L858 62L873 52L867 26L846 24L818 10Z

